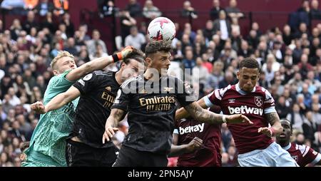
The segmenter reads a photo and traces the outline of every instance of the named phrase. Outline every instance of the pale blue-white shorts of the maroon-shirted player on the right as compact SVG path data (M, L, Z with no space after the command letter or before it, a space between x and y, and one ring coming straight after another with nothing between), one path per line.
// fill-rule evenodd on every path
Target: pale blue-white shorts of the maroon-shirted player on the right
M273 142L264 150L253 150L238 155L241 167L299 167L290 153Z

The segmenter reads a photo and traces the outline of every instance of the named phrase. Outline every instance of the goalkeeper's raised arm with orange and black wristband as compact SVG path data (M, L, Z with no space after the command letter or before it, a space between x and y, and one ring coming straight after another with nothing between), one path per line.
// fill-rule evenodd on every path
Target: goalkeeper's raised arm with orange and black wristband
M134 51L134 49L135 48L133 48L132 46L126 46L126 48L124 48L121 52L118 52L113 56L96 58L93 61L89 61L82 66L73 69L66 75L66 78L69 81L77 81L79 78L85 76L88 73L101 70L108 66L110 63L123 60L124 58L128 57L128 55L130 55L131 52Z

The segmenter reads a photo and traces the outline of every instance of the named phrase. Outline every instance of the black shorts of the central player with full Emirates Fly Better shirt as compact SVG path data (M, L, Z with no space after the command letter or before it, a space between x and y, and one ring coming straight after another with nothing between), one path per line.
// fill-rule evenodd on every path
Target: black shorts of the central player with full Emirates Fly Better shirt
M135 150L124 146L113 167L166 167L167 155Z

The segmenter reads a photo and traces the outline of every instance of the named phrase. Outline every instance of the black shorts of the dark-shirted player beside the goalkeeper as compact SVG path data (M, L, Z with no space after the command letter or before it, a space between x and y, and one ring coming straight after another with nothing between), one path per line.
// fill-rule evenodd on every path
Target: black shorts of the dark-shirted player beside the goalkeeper
M68 167L111 167L116 161L118 148L93 148L85 143L68 139L66 161Z

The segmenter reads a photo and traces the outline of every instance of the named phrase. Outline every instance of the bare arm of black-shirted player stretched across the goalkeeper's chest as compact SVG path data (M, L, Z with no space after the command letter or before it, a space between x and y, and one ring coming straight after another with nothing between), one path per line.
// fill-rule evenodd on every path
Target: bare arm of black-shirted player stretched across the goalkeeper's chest
M66 105L67 103L70 103L75 98L78 98L81 93L79 90L73 86L69 88L64 93L59 93L54 98L52 98L49 103L44 105L44 103L41 103L40 101L33 103L30 105L31 109L36 111L36 113L44 114L51 110L56 110L58 108L61 108L63 105Z

